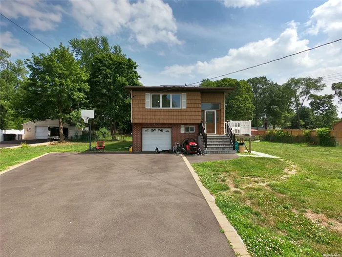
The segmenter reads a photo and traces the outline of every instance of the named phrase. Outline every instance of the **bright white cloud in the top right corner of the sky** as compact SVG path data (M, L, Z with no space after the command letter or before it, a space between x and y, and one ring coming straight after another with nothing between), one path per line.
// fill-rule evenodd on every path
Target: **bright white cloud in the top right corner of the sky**
M338 36L342 33L342 0L329 0L312 10L307 25L311 25L307 32L317 35L319 32L329 36Z

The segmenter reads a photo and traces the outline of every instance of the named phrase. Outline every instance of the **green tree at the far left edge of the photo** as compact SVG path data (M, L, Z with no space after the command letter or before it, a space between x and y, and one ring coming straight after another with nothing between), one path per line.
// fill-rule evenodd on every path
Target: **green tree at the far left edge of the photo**
M0 48L0 128L21 129L21 123L25 120L16 112L15 102L27 70L22 60L13 63L10 57L10 53Z

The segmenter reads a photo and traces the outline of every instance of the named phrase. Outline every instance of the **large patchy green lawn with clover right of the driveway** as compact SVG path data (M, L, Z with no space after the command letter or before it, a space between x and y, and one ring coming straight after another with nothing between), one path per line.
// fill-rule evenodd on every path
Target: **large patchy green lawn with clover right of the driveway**
M250 254L341 254L342 148L258 142L252 150L281 159L192 164Z

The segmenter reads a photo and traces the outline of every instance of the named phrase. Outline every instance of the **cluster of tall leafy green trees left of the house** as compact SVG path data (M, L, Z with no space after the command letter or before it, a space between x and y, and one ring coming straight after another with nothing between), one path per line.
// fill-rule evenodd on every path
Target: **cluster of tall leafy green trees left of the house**
M113 135L130 121L130 98L125 86L142 86L138 65L107 37L72 39L49 53L10 60L0 49L0 126L21 129L25 121L58 119L81 125L81 109L94 109L92 126Z

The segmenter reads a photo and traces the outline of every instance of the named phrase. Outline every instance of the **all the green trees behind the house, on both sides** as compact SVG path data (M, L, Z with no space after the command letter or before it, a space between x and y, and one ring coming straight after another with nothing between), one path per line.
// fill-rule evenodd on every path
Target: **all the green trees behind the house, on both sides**
M81 109L94 109L94 128L105 127L112 135L125 132L130 124L130 96L124 87L143 86L138 65L119 46L110 46L107 37L68 43L14 62L0 49L1 129L21 129L29 120L58 119L62 139L63 124L84 125ZM226 96L225 119L252 119L255 127L312 129L331 127L338 120L334 95L316 94L326 87L322 78L290 78L282 85L265 76L204 79L201 86L235 88ZM332 89L342 103L342 82Z

